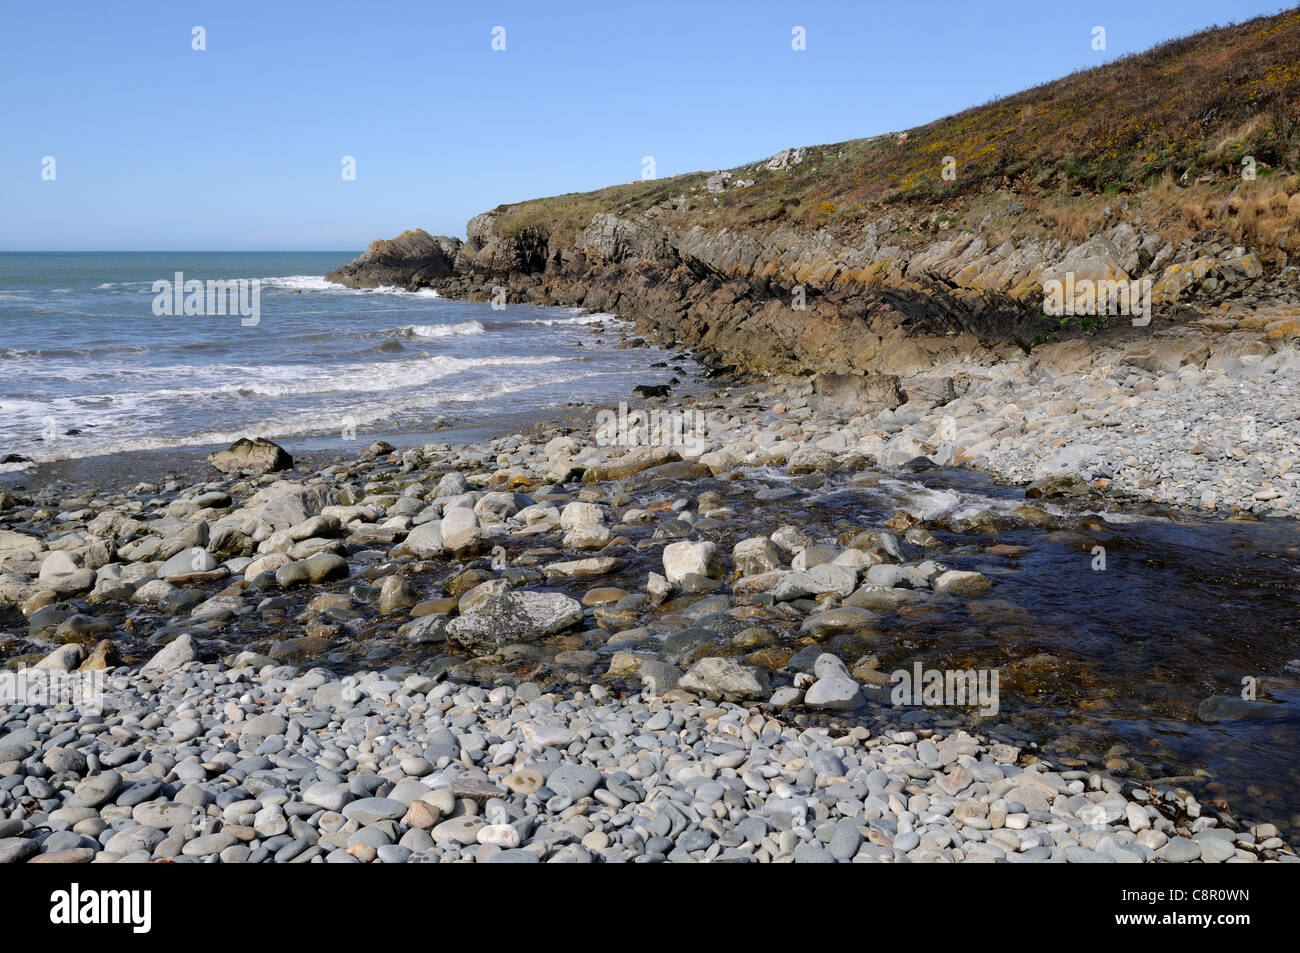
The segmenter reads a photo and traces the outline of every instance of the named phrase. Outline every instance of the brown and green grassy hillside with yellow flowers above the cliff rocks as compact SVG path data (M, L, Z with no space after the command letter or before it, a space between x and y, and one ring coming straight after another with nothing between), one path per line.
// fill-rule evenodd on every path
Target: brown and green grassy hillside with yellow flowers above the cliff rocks
M948 156L956 181L941 176ZM1258 194L1228 208L1245 156L1257 163ZM742 166L736 177L754 185L723 195L706 191L707 173L692 173L504 205L498 229L541 226L571 243L597 212L627 215L686 196L676 213L682 226L786 224L852 238L890 209L926 233L1014 198L1022 211L1011 226L1082 238L1119 195L1183 237L1217 228L1230 241L1262 243L1266 261L1280 264L1287 250L1300 251L1300 178L1278 173L1297 169L1300 9L1292 9L1173 40L905 138L814 146L788 170Z

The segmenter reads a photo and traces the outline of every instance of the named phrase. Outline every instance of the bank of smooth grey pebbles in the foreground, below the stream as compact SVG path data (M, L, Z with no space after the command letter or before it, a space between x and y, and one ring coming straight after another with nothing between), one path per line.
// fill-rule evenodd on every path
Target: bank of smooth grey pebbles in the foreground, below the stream
M108 680L103 718L43 711L5 736L5 759L44 771L9 775L39 809L0 822L0 861L1294 861L1270 824L1234 829L1195 798L965 732L165 651ZM819 671L845 677L833 658Z

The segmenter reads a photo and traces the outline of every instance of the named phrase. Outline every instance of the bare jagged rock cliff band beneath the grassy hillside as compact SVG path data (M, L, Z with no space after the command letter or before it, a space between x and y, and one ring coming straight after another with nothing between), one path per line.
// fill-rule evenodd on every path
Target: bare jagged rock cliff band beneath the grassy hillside
M748 369L901 377L956 356L1027 350L1063 325L1069 333L1069 321L1044 312L1050 281L1067 282L1075 304L1084 280L1149 280L1157 326L1188 311L1300 295L1295 265L1266 276L1247 248L1213 239L1175 244L1131 222L1072 244L997 239L989 221L937 241L918 238L904 212L883 215L853 237L786 224L708 231L690 224L685 202L677 196L627 216L599 212L572 243L543 226L502 234L510 208L502 207L472 218L464 243L425 237L420 255L436 244L456 247L450 269L395 257L399 238L372 244L334 276L430 285L476 300L503 289L512 302L612 312L658 343ZM1132 328L1127 313L1086 324Z

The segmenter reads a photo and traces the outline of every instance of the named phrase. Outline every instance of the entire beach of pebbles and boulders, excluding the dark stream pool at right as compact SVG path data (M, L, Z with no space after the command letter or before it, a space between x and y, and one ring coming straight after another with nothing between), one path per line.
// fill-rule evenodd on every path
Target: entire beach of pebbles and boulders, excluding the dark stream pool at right
M1048 744L1060 679L1123 692L1028 629L953 650L1001 714L892 701L927 627L1022 624L1014 534L1078 536L1083 573L1135 521L1290 532L1300 354L1156 346L939 368L870 415L806 380L629 395L702 413L689 445L593 413L5 490L9 675L100 681L4 699L0 861L1291 862L1284 788L1239 816L1173 749ZM1169 676L1150 711L1288 722L1279 642L1258 698Z

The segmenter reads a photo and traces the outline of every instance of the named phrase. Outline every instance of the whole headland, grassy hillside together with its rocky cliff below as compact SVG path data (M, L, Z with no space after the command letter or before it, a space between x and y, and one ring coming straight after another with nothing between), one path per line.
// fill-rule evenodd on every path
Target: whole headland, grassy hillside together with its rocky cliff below
M503 289L784 372L906 374L1190 316L1227 330L1300 295L1297 61L1290 10L904 134L502 205L464 242L404 233L328 277ZM1053 281L1149 282L1150 321L1088 315L1082 298L1046 315Z

